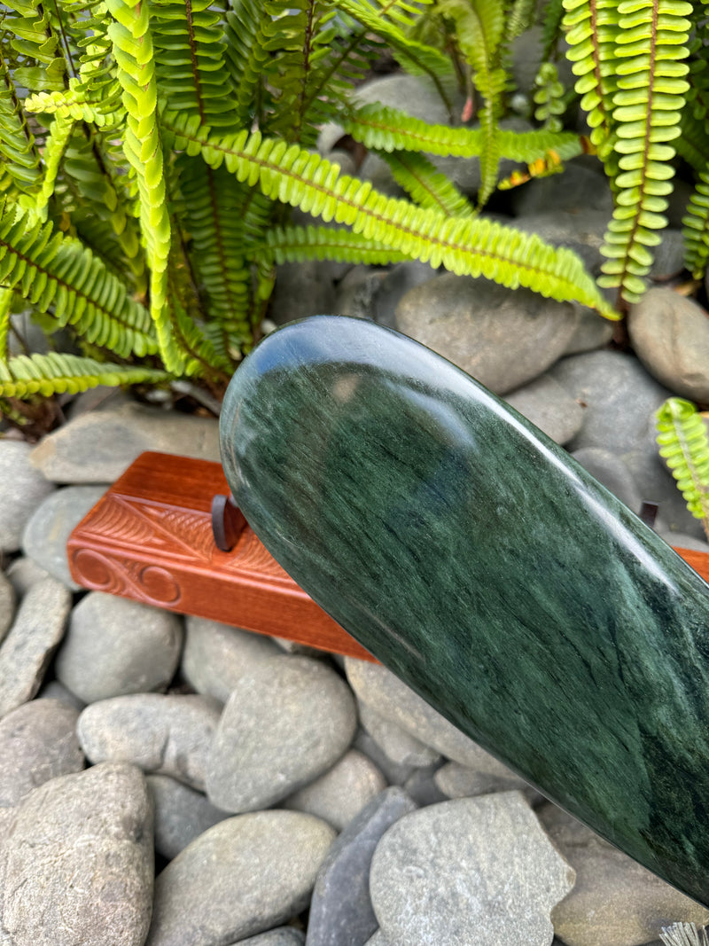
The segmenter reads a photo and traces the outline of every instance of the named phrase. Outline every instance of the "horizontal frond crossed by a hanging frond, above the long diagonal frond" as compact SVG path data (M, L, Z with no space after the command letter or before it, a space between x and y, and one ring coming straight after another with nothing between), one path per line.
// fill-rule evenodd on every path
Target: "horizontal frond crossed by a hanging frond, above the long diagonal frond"
M347 115L342 123L355 141L382 151L424 151L427 154L479 157L486 135L479 129L429 125L412 115L377 102ZM581 137L573 131L497 131L500 155L530 164L554 150L567 161L583 152Z

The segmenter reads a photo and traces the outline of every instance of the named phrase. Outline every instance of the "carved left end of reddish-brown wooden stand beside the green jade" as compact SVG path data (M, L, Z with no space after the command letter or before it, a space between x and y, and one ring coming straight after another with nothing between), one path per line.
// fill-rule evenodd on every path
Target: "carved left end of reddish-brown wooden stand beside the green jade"
M212 501L221 466L143 453L69 537L82 587L373 660L268 554L233 511L235 544L216 547Z

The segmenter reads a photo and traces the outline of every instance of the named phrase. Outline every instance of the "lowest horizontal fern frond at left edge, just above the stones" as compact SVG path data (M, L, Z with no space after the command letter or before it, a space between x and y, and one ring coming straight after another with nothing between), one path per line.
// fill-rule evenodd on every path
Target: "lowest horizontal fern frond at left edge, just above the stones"
M168 379L164 371L133 365L102 363L77 355L50 352L19 355L0 367L0 397L31 397L42 394L78 394L99 384L158 384Z

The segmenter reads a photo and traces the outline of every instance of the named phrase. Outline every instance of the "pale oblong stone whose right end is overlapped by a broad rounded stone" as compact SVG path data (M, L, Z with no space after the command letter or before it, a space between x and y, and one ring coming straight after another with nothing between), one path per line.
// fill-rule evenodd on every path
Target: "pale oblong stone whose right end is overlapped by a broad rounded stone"
M83 710L78 740L91 762L132 762L202 791L218 719L203 696L134 693Z

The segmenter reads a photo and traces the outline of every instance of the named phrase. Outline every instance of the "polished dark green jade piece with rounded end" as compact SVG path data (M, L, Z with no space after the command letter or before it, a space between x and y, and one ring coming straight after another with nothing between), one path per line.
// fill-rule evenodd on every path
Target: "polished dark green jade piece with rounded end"
M709 905L709 586L545 434L417 342L317 316L221 416L268 551L547 797Z

